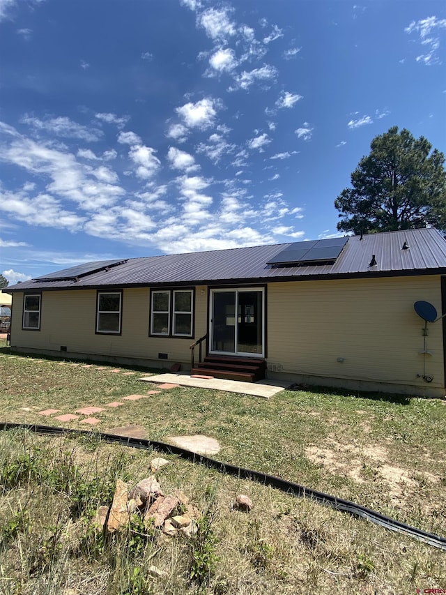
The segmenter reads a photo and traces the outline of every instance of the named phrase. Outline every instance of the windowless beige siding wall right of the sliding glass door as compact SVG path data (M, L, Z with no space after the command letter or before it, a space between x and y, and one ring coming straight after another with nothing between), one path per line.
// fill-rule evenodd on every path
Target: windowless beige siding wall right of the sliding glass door
M271 283L269 367L298 375L426 386L424 322L413 304L441 312L439 276ZM441 322L429 324L426 375L444 387ZM343 362L337 361L343 358Z

